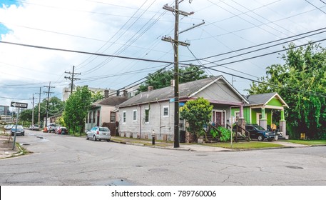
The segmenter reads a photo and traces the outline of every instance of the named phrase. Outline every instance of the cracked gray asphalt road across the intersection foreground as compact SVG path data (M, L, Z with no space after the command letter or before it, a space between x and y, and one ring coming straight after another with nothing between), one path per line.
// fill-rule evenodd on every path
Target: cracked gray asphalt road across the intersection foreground
M32 154L0 160L1 186L326 185L326 147L200 152L26 131Z

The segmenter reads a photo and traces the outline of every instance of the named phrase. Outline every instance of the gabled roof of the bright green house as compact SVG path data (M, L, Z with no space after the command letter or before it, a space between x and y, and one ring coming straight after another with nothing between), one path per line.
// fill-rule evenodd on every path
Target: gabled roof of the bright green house
M287 106L285 101L282 99L282 97L279 94L277 94L277 92L271 92L271 93L265 93L265 94L253 94L253 95L248 95L247 96L247 99L249 101L249 106L266 105L273 98L279 99L280 102L284 106ZM289 106L287 106L287 107L289 107Z

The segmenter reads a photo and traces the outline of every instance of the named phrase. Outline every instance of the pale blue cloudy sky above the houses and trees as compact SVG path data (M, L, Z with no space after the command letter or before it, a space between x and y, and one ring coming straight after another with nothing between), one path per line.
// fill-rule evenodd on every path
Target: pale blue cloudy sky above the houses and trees
M46 98L50 82L51 96L63 99L71 82L65 72L73 66L76 85L102 89L172 69L173 46L162 37L173 38L175 16L165 4L175 1L0 0L0 105L17 101L30 109L40 88ZM180 67L205 66L206 74L225 76L241 94L266 67L283 64L290 42L325 47L326 0L180 0L179 9L194 12L180 16L179 41L190 44L179 46Z

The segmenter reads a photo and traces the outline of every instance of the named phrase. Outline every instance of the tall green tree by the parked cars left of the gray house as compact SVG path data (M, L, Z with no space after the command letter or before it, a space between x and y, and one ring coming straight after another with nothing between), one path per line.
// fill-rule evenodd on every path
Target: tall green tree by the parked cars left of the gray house
M92 93L88 86L78 86L77 90L69 96L66 108L63 111L63 119L69 130L81 132L85 123L86 114L92 103Z

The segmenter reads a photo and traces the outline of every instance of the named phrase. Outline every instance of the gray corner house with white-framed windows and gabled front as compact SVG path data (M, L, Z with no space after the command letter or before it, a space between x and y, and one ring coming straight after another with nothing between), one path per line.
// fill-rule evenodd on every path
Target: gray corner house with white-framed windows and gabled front
M142 92L118 105L119 135L133 138L173 141L174 139L174 90L172 86ZM230 124L231 108L240 107L248 101L225 80L214 76L179 85L180 106L186 101L203 97L213 107L212 123L220 126ZM243 113L240 112L240 117ZM185 121L180 120L180 131L185 131ZM186 139L187 140L187 139Z

